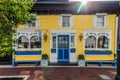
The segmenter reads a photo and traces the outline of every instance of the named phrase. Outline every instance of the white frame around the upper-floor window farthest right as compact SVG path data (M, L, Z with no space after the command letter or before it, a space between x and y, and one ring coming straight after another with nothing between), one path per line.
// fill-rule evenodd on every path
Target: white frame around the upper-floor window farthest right
M98 26L97 24L97 17L98 16L104 16L104 26ZM106 13L96 13L95 15L95 28L106 28L106 25L107 25L107 14Z

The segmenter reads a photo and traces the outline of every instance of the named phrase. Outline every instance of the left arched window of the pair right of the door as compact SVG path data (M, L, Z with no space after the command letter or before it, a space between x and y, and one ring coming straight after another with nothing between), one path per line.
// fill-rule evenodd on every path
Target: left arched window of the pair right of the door
M96 48L96 38L94 36L88 36L85 39L85 48Z

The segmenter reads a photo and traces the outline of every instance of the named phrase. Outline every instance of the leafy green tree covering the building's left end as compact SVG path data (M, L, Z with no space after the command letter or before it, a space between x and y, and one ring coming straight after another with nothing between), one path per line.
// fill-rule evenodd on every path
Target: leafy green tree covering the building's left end
M11 55L18 24L25 24L35 17L30 13L33 0L0 0L0 57Z

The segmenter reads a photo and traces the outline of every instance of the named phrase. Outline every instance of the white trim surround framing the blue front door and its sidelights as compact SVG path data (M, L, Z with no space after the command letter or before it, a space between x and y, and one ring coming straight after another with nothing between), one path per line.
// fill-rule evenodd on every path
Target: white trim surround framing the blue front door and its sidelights
M64 35L64 34L68 34L68 35L70 35L70 39L69 39L69 41L70 41L70 49L72 48L71 47L71 35L73 36L74 35L74 42L75 42L75 44L74 44L74 48L76 49L76 37L77 37L77 30L51 30L50 31L50 62L57 62L57 57L58 57L58 38L57 38L57 35ZM56 36L56 52L55 53L51 53L51 49L52 49L52 44L53 44L53 42L52 42L52 37L53 36ZM70 58L70 62L76 62L76 52L75 53L71 53L70 52L70 56L69 56L69 58Z

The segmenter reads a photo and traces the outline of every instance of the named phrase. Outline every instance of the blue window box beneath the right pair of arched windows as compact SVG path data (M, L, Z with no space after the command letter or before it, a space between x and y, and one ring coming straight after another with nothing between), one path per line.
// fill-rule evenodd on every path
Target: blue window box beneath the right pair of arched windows
M86 55L109 55L111 51L85 51Z

